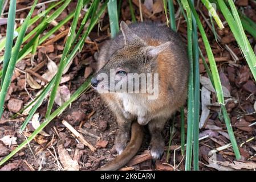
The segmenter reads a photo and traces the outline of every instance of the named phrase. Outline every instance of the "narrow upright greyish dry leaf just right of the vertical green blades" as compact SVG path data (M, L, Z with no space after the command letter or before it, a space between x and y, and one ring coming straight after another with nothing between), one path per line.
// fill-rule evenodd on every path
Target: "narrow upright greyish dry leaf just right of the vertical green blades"
M202 86L202 91L201 91L202 113L201 113L201 118L199 123L200 129L204 126L206 119L210 114L210 110L208 109L208 105L210 105L210 93L211 92L208 89L206 89L205 86Z

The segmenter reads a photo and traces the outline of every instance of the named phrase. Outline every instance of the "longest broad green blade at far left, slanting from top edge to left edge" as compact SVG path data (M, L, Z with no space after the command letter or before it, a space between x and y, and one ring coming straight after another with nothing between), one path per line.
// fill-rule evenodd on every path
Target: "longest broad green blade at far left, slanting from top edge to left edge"
M11 83L11 77L13 76L13 71L14 71L16 61L18 59L19 49L21 48L22 40L25 36L26 30L27 30L27 25L29 23L29 19L31 18L32 12L34 11L35 5L37 2L38 2L38 0L34 1L34 4L32 5L31 10L29 11L29 14L27 15L27 18L25 19L25 21L22 24L21 31L19 32L17 42L15 43L14 50L11 55L9 65L7 67L6 76L4 78L5 81L3 82L2 90L0 92L0 118L2 117L2 114L3 114L3 110L4 110L3 106L5 104L5 97L6 97L7 90L9 89L9 86Z

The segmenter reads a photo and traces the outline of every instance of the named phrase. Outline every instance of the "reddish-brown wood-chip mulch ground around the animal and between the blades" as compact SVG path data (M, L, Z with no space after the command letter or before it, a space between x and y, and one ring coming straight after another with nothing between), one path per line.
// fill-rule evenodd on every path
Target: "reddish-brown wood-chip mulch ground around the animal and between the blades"
M18 3L17 9L26 7L29 1L22 1ZM136 1L134 1L136 2ZM240 1L238 1L240 2ZM67 10L64 11L58 19L59 20L66 17L71 10L74 9L75 2L72 3L72 6L69 6ZM256 13L255 7L256 4L253 1L249 1L249 4L246 6L241 6L245 14L256 22ZM136 3L133 6L135 8L135 13L139 19L139 8L136 6ZM176 11L177 11L177 6ZM6 7L7 10L8 7ZM150 8L150 7L149 7ZM160 10L159 10L160 9ZM166 22L166 16L162 13L162 7L159 9L153 8L155 15L151 16L151 20ZM208 11L204 6L200 4L199 8L202 13L208 18ZM144 19L149 19L147 13L145 13L145 8L143 9ZM24 18L27 14L27 11L21 11L17 13L17 18ZM186 23L184 18L179 18L177 16L178 32L180 32L184 42L186 42ZM222 17L223 18L223 17ZM123 2L121 7L120 19L131 20L131 14L129 11L129 6L126 2ZM237 43L233 36L230 33L229 28L225 28L220 31L216 28L218 35L221 36L221 40L217 43L214 39L214 35L210 28L206 24L206 20L201 19L205 30L208 34L208 39L212 46L214 56L216 61L218 61L218 70L220 72L220 78L222 85L226 88L226 94L230 94L230 97L225 97L227 111L230 115L231 124L233 126L235 138L239 145L239 150L242 155L242 159L238 162L235 161L234 153L231 147L225 148L220 152L217 152L217 155L213 155L221 163L218 165L209 165L209 158L212 157L212 154L209 152L215 148L225 146L229 144L229 137L227 135L225 123L223 118L218 116L220 111L220 106L216 104L216 96L213 92L210 92L210 104L207 105L207 108L210 110L210 114L206 115L206 122L202 129L200 130L200 138L206 136L205 139L200 140L200 169L201 170L215 170L215 169L254 169L256 162L256 142L255 134L256 127L254 122L256 121L255 107L254 103L256 100L256 85L253 80L253 76L250 73L250 69L246 64L245 59L243 59L241 52L238 49ZM222 19L223 20L223 19ZM19 22L18 22L19 24ZM55 33L58 35L66 30L70 26L70 22L66 24L62 30L59 30ZM97 51L97 48L101 46L105 39L108 39L108 16L105 14L100 21L101 30L99 31L97 26L91 32L90 39L87 40L82 52L80 52L72 62L72 65L69 71L63 76L67 78L67 81L63 82L62 85L66 85L65 89L72 93L86 80L86 77L90 75L92 70L95 68L95 60L93 59L94 53ZM32 26L34 27L34 26ZM52 25L51 25L52 27ZM5 36L6 26L1 26L0 31L1 35ZM31 28L29 28L29 31ZM255 39L250 35L247 35L251 45L255 45ZM42 67L36 71L39 75L47 72L47 64L49 59L47 56L54 61L56 64L59 63L59 55L62 53L65 39L60 38L55 42L52 42L50 45L41 46L38 48L38 52L35 55L35 65L43 63ZM205 54L204 45L202 39L199 38L198 42L202 49L202 52ZM230 56L230 51L225 49L225 44L229 46L231 52L234 52L238 57L237 61L234 61L234 58ZM3 55L3 52L1 53ZM47 56L46 56L47 55ZM25 133L19 134L18 130L22 125L22 122L25 120L26 115L19 115L15 119L10 119L17 110L21 109L23 105L26 105L30 101L30 96L35 97L35 94L40 89L31 88L30 84L27 82L25 85L25 74L22 71L26 69L33 69L35 66L32 66L30 63L30 56L23 59L18 63L15 70L15 76L13 77L12 85L9 90L9 96L6 99L6 109L3 115L3 118L0 121L0 139L5 136L10 135L11 137L17 137L15 140L17 144L4 144L0 141L0 160L4 158L10 151L14 150L18 144L22 143L25 140L25 137L29 137L34 131L34 127L30 123ZM22 71L20 71L22 70ZM200 73L201 76L207 77L205 69L202 64L200 64ZM37 81L39 84L40 79L36 76L31 75L32 79ZM25 86L27 91L25 90ZM206 90L210 90L207 85L204 85ZM202 89L202 94L207 95ZM30 96L29 96L29 94ZM201 100L201 106L204 105ZM39 108L39 118L42 118L46 113L47 101L43 102L43 105ZM55 109L57 105L55 105ZM186 108L185 108L186 115ZM83 134L84 138L96 147L95 152L91 151L88 147L84 146L79 142L74 135L71 134L63 124L62 120L66 120L72 126L75 127L77 131L83 129L88 133L94 135L90 137L88 134ZM166 162L167 151L161 160L157 160L156 164L153 165L151 162L151 156L148 154L148 144L150 141L148 131L145 129L147 135L144 138L143 146L141 150L133 159L127 167L123 168L125 170L139 170L139 169L157 169L157 170L173 170L179 169L184 170L185 159L181 155L181 150L177 149L180 146L180 113L176 113L174 122L174 136L170 146L170 159ZM185 118L186 121L186 118ZM169 129L172 123L169 121L166 123L165 130L163 131L163 136L165 138L166 150L168 148L168 142L170 138ZM77 101L75 101L63 114L59 117L56 117L54 121L50 123L44 129L46 134L38 135L32 142L30 146L26 146L18 152L13 158L11 158L7 163L5 163L0 170L56 170L63 167L59 163L62 160L59 158L58 146L60 145L60 140L64 140L64 150L68 151L68 155L77 160L79 163L80 170L94 170L103 166L103 164L108 163L110 160L115 158L116 152L113 149L113 141L117 131L117 125L115 122L115 117L113 114L104 106L103 102L100 100L99 95L94 90L88 90L87 93L84 93ZM96 136L96 137L95 137ZM247 141L247 142L246 142ZM56 153L56 154L55 154ZM221 168L222 167L222 168Z

